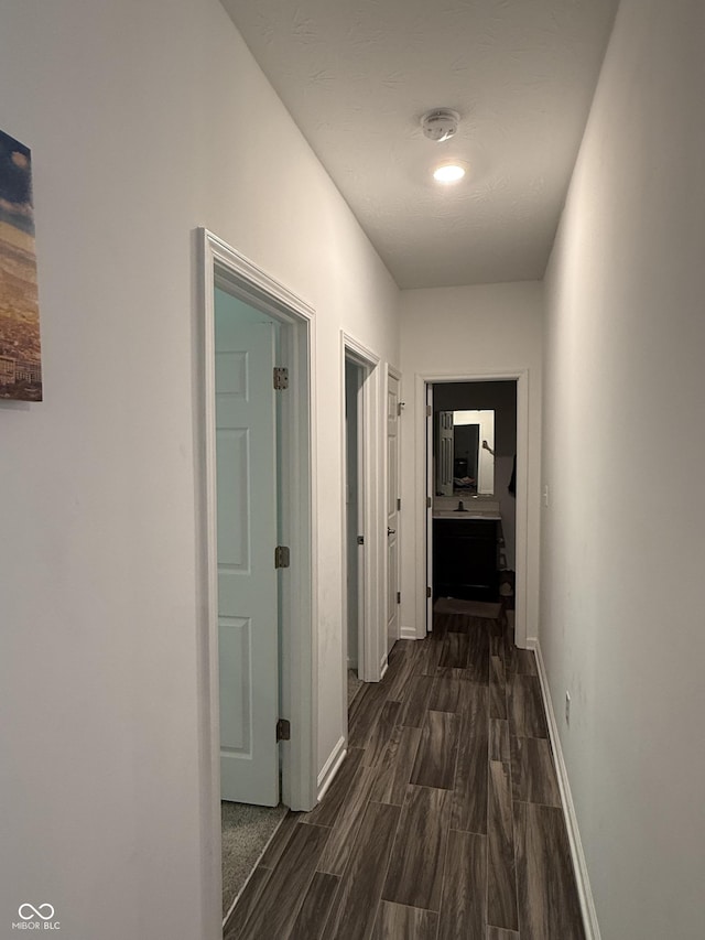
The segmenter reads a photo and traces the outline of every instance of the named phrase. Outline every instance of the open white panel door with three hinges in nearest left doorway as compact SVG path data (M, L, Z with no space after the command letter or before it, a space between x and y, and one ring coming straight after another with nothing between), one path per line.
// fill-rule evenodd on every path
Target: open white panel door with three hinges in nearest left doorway
M260 806L279 802L273 366L273 324L216 301L220 787Z

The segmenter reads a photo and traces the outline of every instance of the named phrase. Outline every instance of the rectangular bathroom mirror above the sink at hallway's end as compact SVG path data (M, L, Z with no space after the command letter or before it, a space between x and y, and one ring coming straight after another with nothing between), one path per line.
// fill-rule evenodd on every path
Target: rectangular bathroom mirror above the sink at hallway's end
M492 496L495 412L436 412L434 464L436 496Z

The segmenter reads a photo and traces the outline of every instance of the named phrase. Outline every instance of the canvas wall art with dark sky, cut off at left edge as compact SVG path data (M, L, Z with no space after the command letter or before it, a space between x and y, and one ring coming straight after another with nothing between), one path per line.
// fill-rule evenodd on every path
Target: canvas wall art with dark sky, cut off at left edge
M42 400L32 158L0 131L0 399Z

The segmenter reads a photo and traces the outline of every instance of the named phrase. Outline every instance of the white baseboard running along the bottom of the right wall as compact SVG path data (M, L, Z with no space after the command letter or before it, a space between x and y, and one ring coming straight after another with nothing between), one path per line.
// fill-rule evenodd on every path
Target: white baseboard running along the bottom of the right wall
M585 861L585 853L583 852L577 817L575 815L575 804L573 803L573 795L571 793L568 771L563 759L563 748L561 747L561 738L558 736L558 725L555 720L555 712L553 711L553 701L549 691L549 678L546 676L543 656L541 653L541 644L538 639L531 637L527 639L527 648L533 649L536 657L541 694L543 696L543 706L549 720L549 735L551 737L551 745L553 748L555 770L558 777L558 789L561 790L563 815L565 817L565 825L568 832L571 857L573 860L573 871L575 872L581 910L583 912L585 937L586 940L601 940L599 923L597 922L597 911L595 910L595 899L593 898L590 879L587 873L587 862Z

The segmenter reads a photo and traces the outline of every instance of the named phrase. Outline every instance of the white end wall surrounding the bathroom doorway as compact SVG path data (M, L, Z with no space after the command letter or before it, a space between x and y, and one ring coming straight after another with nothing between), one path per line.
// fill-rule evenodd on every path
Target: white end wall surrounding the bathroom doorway
M425 575L423 551L425 476L417 454L425 446L417 413L420 376L529 375L528 608L527 636L539 623L539 503L541 456L541 344L543 288L535 281L402 291L402 585L404 635L422 635Z

